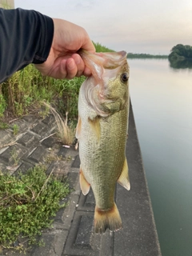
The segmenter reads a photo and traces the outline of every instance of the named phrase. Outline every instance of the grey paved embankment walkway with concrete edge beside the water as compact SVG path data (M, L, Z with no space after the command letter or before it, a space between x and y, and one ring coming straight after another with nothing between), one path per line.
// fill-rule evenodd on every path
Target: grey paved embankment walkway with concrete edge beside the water
M11 129L0 131L0 170L25 172L39 162L52 159L48 161L47 173L53 170L54 174L67 174L70 186L74 188L69 197L69 205L58 211L53 228L42 234L46 245L32 246L26 251L26 256L161 256L132 110L126 146L131 190L127 191L122 186L117 186L116 190L123 229L115 233L108 230L103 235L93 232L92 191L86 197L81 194L78 151L58 146L57 139L50 136L55 130L53 116L45 119L27 116L13 124L19 126L17 136L13 135ZM13 154L18 158L16 167ZM0 252L0 256L6 255L22 254L11 250Z

